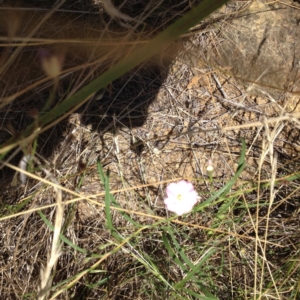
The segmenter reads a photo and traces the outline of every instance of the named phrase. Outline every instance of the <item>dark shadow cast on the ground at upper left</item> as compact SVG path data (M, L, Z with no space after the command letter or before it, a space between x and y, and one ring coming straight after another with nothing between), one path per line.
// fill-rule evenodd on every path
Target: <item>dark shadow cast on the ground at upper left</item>
M49 111L69 93L130 53L134 49L130 42L138 44L141 40L148 40L191 8L190 1L180 1L176 5L173 1L136 1L134 4L131 1L115 1L116 7L123 13L134 16L134 20L127 21L111 18L96 3L66 1L48 19L45 16L53 1L31 1L30 7L21 7L13 2L2 4L0 33L7 40L0 46L0 145L12 136L21 135L34 122L36 114ZM20 47L20 44L28 42L26 38L29 36L29 44ZM96 45L94 42L84 43L97 39ZM73 43L73 40L76 42ZM111 41L113 45L99 43L99 40ZM41 51L64 58L64 73L55 89L52 81L41 82L45 78L41 68ZM147 119L148 107L168 74L176 50L172 47L170 53L167 52L160 53L99 91L77 111L81 114L80 125L91 125L92 130L100 135L122 127L142 126ZM51 97L53 100L46 104ZM65 119L40 134L38 155L51 161L57 145L72 129ZM31 144L23 145L18 153L11 151L5 159L10 157L9 162L17 165L24 152L30 153L31 147ZM2 168L0 181L9 186L14 173Z

